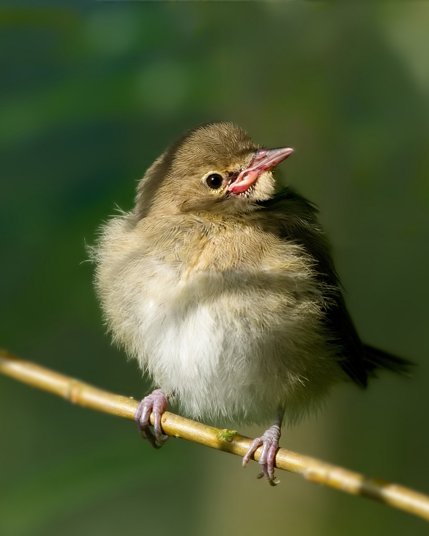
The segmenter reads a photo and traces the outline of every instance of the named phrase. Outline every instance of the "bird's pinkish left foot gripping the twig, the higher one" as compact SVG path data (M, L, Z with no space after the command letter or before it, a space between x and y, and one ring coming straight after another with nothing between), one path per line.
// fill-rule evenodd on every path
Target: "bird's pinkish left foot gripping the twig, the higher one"
M162 435L161 430L161 414L167 409L167 404L168 398L166 394L156 389L143 398L134 414L134 420L137 423L140 434L155 449L160 449L168 439L168 436ZM151 413L153 413L154 421L153 433L149 428Z

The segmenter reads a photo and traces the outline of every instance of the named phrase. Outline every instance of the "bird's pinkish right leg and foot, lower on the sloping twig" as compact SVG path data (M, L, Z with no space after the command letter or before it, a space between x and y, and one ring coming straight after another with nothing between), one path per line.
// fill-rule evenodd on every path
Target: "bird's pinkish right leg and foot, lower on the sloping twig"
M257 475L257 478L265 477L270 486L276 486L278 482L274 480L274 457L278 449L278 442L280 439L280 427L282 426L284 411L279 411L276 416L275 423L269 428L261 437L256 437L250 445L249 450L243 457L243 467L246 467L250 456L252 456L256 449L262 445L262 452L259 458L259 465L262 472Z

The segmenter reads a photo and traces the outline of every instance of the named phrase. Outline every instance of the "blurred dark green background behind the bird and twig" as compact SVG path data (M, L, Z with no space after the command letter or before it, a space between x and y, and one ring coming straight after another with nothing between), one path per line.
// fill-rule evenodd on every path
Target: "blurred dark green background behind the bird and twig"
M85 243L182 131L236 122L295 148L283 178L320 207L361 336L419 363L339 386L282 445L429 493L429 4L50 5L0 11L0 346L142 397ZM4 536L427 533L289 473L271 488L225 453L155 451L132 422L5 377L0 434Z

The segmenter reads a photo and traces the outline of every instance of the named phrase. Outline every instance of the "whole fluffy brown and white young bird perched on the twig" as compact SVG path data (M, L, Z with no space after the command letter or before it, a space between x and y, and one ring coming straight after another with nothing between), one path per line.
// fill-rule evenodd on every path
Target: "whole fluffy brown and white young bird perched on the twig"
M316 206L279 184L291 147L268 149L228 122L185 132L147 169L135 207L103 227L92 257L114 341L154 391L138 405L160 448L169 403L190 418L270 426L258 478L276 485L282 426L341 382L412 363L364 344L344 301ZM153 432L149 428L153 413Z

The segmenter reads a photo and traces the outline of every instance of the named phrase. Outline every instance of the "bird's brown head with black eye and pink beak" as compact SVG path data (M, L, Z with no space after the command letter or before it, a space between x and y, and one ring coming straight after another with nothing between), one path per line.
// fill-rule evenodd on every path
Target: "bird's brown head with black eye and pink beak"
M265 149L231 123L198 126L176 140L138 186L136 213L238 214L273 196L272 168L293 150Z

